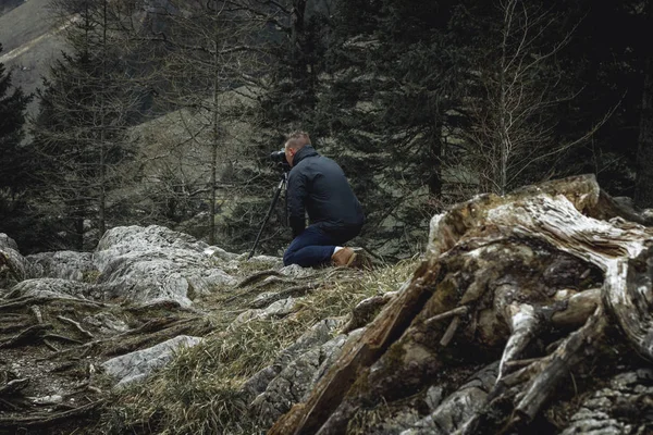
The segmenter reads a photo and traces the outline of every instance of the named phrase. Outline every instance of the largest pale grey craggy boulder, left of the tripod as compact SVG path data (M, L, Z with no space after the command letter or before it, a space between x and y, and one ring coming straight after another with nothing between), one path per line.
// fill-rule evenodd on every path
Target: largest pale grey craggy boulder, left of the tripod
M189 307L236 281L206 251L208 245L186 234L151 225L108 231L94 256L101 275L98 284L107 298L150 303L173 300Z

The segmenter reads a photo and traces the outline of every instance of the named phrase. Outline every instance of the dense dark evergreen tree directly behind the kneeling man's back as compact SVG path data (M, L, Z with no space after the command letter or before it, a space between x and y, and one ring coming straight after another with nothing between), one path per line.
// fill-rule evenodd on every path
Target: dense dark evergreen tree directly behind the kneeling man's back
M448 186L447 132L468 73L446 33L453 2L338 1L318 125L361 199L367 238L408 253ZM393 252L394 250L394 252Z

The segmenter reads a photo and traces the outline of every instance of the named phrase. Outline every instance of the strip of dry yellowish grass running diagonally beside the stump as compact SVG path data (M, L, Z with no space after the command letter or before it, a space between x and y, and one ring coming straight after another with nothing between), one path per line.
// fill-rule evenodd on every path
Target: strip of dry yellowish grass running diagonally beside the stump
M416 269L406 261L372 272L325 270L320 288L284 318L254 320L215 331L181 351L145 384L114 395L103 433L256 434L261 427L248 409L242 384L317 322L345 318L360 300L396 290ZM220 316L220 311L214 311ZM222 319L232 319L225 314ZM217 322L221 324L220 321Z

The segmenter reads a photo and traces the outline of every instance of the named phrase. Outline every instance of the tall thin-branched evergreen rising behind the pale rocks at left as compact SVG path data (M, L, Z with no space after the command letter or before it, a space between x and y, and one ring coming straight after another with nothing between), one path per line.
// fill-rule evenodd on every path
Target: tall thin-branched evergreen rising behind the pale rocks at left
M125 132L138 96L125 79L122 46L110 30L114 16L108 0L62 0L64 16L78 14L66 27L71 53L54 62L39 92L35 145L41 154L38 176L48 186L49 207L65 216L76 249L85 247L88 222L103 234L109 192L131 157Z

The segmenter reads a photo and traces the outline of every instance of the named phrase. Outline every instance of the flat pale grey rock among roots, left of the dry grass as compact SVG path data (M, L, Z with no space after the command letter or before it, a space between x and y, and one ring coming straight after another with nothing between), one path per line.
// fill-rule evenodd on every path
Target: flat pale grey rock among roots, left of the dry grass
M204 338L180 335L157 346L112 358L101 366L119 380L115 387L121 388L145 380L155 370L167 364L181 347L193 347L202 341Z

